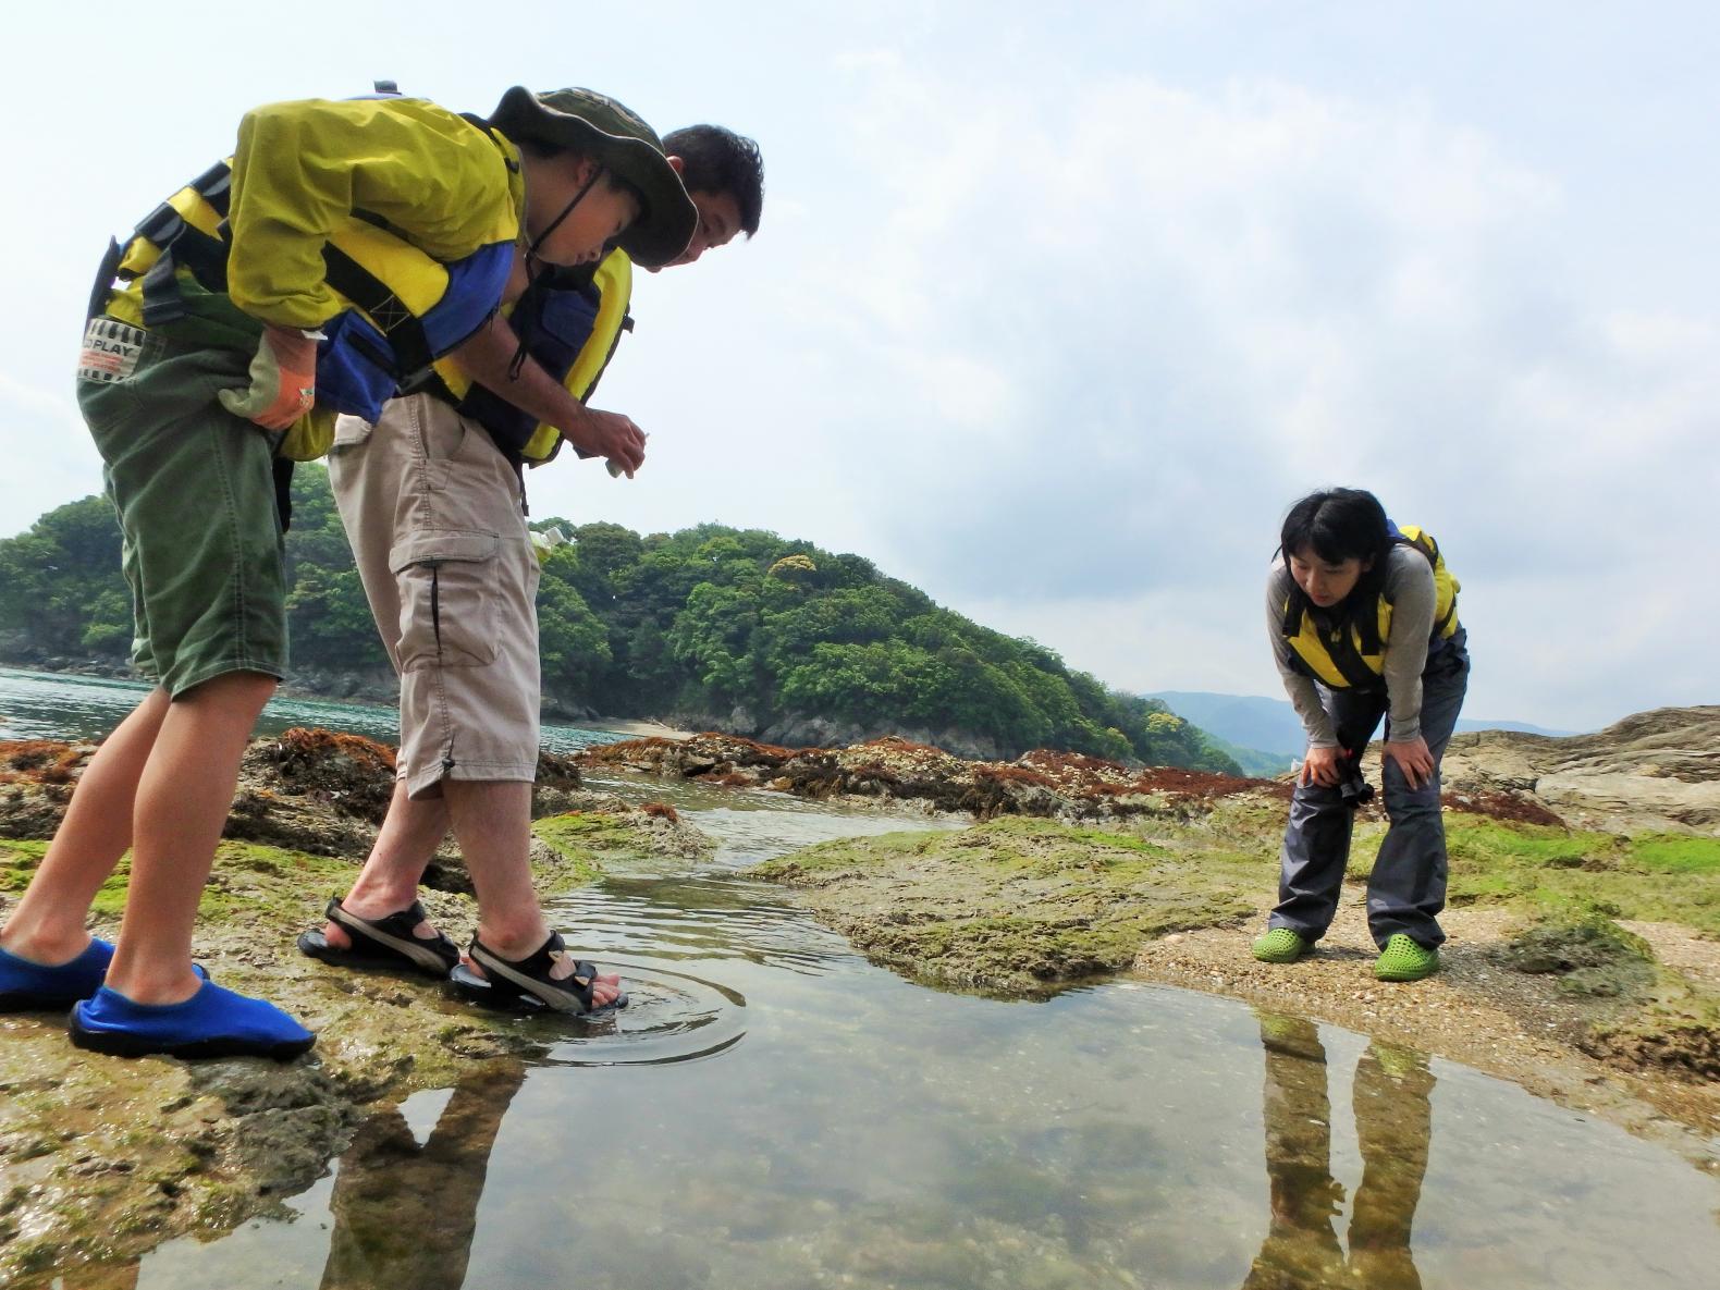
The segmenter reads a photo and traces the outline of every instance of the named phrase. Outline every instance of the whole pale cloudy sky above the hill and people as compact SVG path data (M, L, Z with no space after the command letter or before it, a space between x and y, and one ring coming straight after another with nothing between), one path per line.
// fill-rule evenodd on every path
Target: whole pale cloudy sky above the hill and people
M631 483L535 516L855 550L1128 690L1276 695L1261 576L1347 483L1464 581L1469 712L1720 702L1720 9L163 3L7 19L0 535L100 488L105 241L275 98L516 83L765 155L764 225L642 275ZM647 17L648 14L648 17Z

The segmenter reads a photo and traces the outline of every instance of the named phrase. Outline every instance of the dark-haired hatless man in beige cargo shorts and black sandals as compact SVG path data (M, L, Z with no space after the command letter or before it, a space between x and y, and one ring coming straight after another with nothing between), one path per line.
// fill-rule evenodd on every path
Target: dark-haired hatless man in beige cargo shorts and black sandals
M757 232L764 167L752 139L717 126L693 126L666 136L664 146L698 218L679 255L647 263L648 268L688 265L736 232L748 237ZM402 667L401 777L353 889L344 900L329 901L322 929L299 937L299 949L313 958L408 967L433 977L452 972L468 992L562 1011L624 1001L616 977L597 975L590 963L566 955L554 934L530 961L507 961L475 941L470 960L456 965L452 944L425 920L416 893L449 827L468 865L476 857L483 865L501 860L516 875L530 874L540 702L531 605L538 562L525 545L523 466L544 464L564 439L580 456L607 458L611 473L631 476L643 461L645 437L630 418L585 406L621 330L631 325L633 261L626 248L573 268L545 268L519 256L506 316L492 318L452 361L437 365L425 389L389 404L377 423L377 439L392 437L404 451L378 458L372 427L351 418L337 430L329 475L390 659L401 667L408 638L433 638L437 655L464 648L466 655L456 659L459 671L490 681L478 686L482 707L451 710L435 681L445 674L440 662ZM445 466L433 447L423 452L413 447L411 428L420 425L444 427ZM483 497L482 514L458 521L437 516L432 523L444 538L427 538L415 519L442 504L444 483L427 485L418 470L427 459L445 470L447 478L482 476L473 494ZM427 487L437 495L425 494ZM506 561L492 559L488 538L497 533L507 537ZM423 547L427 540L435 550ZM433 631L427 636L423 626L413 628L430 611L408 585L413 557L423 552L439 557L440 571L464 564L471 574L454 580L466 585L464 604L437 604L440 631L463 623L452 628L452 643ZM504 633L513 642L511 666L490 657L499 616L518 623L518 630ZM542 924L531 924L542 915L528 896L526 877L525 889L514 893L518 927L507 932L480 927L480 934L509 934L516 951L526 941L542 941Z

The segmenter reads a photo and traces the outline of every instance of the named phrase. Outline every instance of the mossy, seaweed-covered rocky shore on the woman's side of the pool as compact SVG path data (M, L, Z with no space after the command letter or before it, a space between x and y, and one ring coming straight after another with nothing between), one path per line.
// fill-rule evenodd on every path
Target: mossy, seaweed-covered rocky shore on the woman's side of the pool
M963 832L826 843L753 874L853 944L951 989L1046 994L1133 974L1379 1034L1510 1078L1720 1168L1720 707L1593 736L1483 731L1445 762L1445 970L1369 972L1359 814L1338 922L1295 967L1254 961L1287 781L1035 752L967 762L905 740L781 748L733 736L595 748L590 767L961 812ZM1378 746L1367 760L1378 783Z

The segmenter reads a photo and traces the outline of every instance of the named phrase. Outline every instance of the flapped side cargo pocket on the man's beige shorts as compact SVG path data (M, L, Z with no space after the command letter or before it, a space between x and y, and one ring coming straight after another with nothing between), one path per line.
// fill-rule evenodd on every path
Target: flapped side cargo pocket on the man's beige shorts
M495 533L415 533L389 550L401 593L401 671L483 667L501 650Z

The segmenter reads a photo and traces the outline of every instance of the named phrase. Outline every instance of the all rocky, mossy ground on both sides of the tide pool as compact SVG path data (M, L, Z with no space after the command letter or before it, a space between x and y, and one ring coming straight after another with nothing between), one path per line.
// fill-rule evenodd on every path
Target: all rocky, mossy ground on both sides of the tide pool
M1608 736L1610 741L1608 741ZM0 745L0 898L21 891L93 748ZM872 960L941 989L1044 996L1111 975L1230 994L1448 1056L1720 1161L1720 709L1643 714L1584 741L1459 736L1445 970L1381 986L1362 879L1385 829L1357 824L1350 884L1319 955L1254 963L1288 784L1029 753L968 762L906 740L784 748L643 738L545 757L535 863L566 889L605 863L695 869L712 843L660 803L587 777L693 781L872 803L903 832L753 870ZM316 1178L375 1108L473 1061L552 1042L433 982L329 970L291 949L363 858L392 750L327 731L258 740L203 900L201 961L318 1030L311 1058L91 1058L64 1018L0 1017L0 1283L224 1232ZM1637 791L1641 789L1641 791ZM915 831L927 814L972 827ZM126 869L96 901L112 932ZM425 903L470 936L470 882L444 851Z

